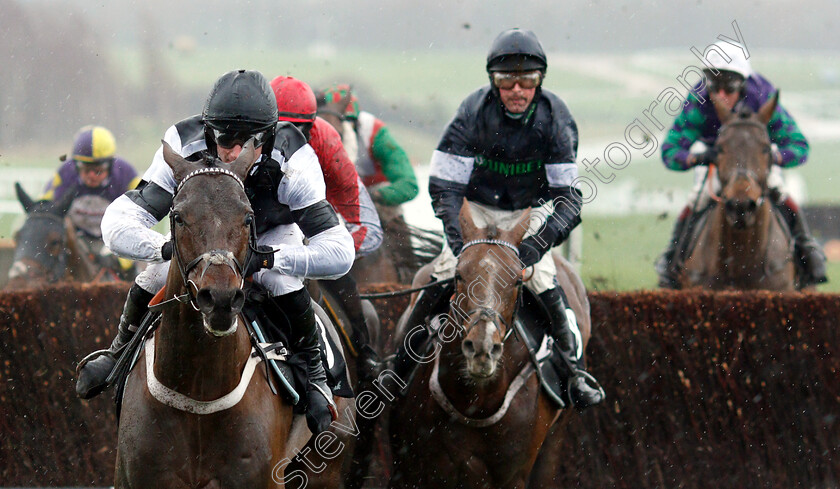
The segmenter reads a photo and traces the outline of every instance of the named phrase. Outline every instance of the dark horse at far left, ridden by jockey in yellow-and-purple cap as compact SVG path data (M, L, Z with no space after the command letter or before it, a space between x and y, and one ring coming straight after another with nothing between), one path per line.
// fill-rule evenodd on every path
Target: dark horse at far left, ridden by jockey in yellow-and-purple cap
M33 200L19 183L18 200L26 221L15 233L14 262L6 290L45 287L59 281L90 282L99 270L67 218L73 193L60 201Z

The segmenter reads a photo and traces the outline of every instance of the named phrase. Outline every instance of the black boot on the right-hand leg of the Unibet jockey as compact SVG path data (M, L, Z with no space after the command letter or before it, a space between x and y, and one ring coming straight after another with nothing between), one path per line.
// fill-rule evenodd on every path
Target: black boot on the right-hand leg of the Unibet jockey
M583 409L598 404L604 400L604 391L592 375L586 372L583 365L583 352L578 357L578 339L572 333L569 318L566 315L566 304L559 287L546 290L540 294L540 299L551 314L550 335L554 338L552 346L552 363L560 367L560 371L568 375L569 395L576 407ZM587 380L598 388L592 388Z

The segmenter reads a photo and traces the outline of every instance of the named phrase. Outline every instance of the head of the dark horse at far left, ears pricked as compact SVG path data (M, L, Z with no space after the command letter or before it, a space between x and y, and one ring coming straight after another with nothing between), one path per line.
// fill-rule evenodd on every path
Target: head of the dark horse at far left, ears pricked
M7 289L23 289L61 280L67 271L67 232L64 216L73 202L68 192L60 201L33 201L19 183L18 200L26 221L15 234L15 255Z

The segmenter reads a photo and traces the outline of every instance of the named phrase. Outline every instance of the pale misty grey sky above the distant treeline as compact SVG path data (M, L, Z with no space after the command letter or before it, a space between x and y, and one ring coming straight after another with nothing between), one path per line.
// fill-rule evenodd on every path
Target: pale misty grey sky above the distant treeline
M2 0L8 1L8 0ZM26 2L29 3L29 2ZM209 44L287 46L331 42L395 49L485 49L500 30L537 33L550 51L683 48L731 33L737 20L755 46L840 50L836 0L54 0L83 12L131 42L141 13L167 37L190 35ZM235 5L235 7L233 7ZM135 38L135 39L132 39Z

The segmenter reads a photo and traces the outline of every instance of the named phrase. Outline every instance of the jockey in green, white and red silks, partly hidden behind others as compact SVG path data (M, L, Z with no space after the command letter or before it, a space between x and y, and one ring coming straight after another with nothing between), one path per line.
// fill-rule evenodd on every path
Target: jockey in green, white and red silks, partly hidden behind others
M394 207L416 197L417 177L408 154L391 135L385 123L359 108L359 101L349 85L335 85L323 94L327 104L339 103L347 97L349 103L343 114L344 146L354 160L362 182L370 190L373 201ZM355 133L355 138L352 133Z

